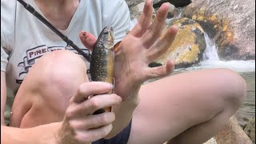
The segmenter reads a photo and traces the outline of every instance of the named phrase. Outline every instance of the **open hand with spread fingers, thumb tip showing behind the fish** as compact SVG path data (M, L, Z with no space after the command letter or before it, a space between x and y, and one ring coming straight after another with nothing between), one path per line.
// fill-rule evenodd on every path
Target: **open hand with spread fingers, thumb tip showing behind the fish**
M148 65L160 57L174 41L178 28L170 26L166 35L160 39L165 25L169 4L164 3L150 24L153 12L152 2L146 1L143 14L134 29L122 39L115 52L114 93L123 100L137 97L143 82L150 78L159 78L174 70L174 62L167 61L165 66L150 68ZM89 48L94 46L96 38L91 34L80 34L82 43Z

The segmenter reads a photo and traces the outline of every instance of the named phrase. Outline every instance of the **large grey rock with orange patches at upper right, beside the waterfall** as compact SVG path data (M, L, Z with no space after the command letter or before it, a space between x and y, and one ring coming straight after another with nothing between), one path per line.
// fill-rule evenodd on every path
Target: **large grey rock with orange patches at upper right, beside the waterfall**
M255 59L255 0L194 0L184 16L214 39L222 60Z

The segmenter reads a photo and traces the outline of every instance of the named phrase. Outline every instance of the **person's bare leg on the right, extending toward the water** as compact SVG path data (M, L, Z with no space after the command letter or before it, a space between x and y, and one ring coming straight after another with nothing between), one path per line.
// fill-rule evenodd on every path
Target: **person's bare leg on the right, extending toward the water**
M129 144L202 143L241 106L246 83L233 71L201 70L142 86Z

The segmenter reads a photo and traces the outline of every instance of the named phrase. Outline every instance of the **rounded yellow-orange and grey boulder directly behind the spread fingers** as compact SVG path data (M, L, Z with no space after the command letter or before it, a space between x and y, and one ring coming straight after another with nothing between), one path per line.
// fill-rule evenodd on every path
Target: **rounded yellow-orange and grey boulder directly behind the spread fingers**
M202 27L189 18L177 19L169 25L178 26L178 34L170 48L155 63L163 65L167 59L171 59L175 62L175 68L189 67L198 63L206 49ZM160 38L166 33L167 27L163 30L164 32Z

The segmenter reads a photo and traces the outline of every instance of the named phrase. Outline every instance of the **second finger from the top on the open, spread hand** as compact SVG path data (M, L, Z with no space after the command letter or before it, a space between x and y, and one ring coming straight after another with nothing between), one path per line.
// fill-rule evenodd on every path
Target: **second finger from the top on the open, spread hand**
M157 12L157 16L149 29L142 36L143 45L149 48L161 36L162 30L166 24L166 17L168 14L170 4L168 2L162 4Z

